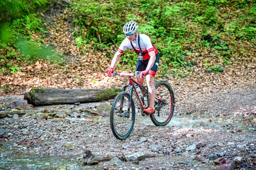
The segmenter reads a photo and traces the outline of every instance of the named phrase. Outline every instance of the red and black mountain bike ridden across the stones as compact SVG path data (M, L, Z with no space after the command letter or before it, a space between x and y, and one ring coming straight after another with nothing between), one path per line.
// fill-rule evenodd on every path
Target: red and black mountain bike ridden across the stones
M135 90L139 99L142 116L148 116L146 109L150 103L148 98L147 86L141 86L132 79L135 74L114 72L113 76L127 77L127 85L122 88L113 101L110 114L110 125L114 136L118 139L126 139L132 132L135 122L135 104L133 91ZM155 112L150 114L152 122L156 126L166 126L174 114L174 92L170 84L166 81L155 83L156 98ZM130 88L130 92L125 91ZM129 90L129 89L128 89ZM148 99L148 100L147 100Z

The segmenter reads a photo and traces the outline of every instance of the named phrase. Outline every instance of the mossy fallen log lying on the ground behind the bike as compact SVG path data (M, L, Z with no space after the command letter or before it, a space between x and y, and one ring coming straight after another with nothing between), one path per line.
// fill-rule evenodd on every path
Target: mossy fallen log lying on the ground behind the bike
M24 99L34 106L99 102L115 98L120 89L56 89L34 87Z

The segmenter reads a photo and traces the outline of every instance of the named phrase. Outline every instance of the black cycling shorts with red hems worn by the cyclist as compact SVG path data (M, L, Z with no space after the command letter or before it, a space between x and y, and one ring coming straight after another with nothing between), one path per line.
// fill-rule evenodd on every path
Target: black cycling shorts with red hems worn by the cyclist
M136 65L136 71L144 71L146 69L148 61L150 61L150 59L138 60ZM155 77L156 75L158 64L159 64L159 53L156 54L156 61L153 67L150 69L150 75L153 77Z

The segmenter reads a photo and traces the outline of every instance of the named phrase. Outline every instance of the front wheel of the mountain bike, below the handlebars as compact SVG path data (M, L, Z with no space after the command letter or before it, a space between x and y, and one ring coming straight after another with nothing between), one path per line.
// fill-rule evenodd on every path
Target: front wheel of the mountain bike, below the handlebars
M110 125L114 136L126 139L132 132L135 122L135 105L132 99L129 108L130 94L122 91L116 95L111 107Z

